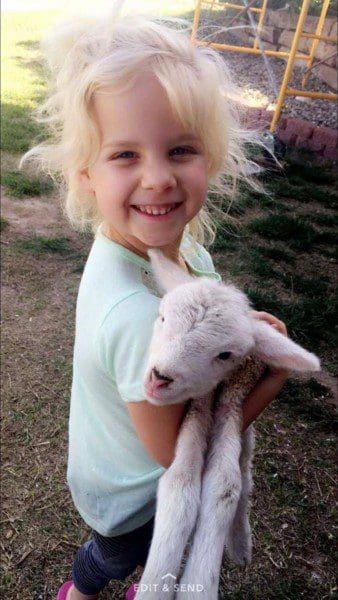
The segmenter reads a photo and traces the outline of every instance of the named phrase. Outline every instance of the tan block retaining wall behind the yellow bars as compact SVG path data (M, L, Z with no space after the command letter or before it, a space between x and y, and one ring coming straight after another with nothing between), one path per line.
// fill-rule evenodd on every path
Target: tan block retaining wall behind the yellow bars
M265 48L267 50L289 52L297 26L297 20L298 15L291 13L288 10L267 10L261 32L261 38ZM317 23L318 17L308 16L303 31L306 33L315 33ZM252 46L254 34L249 26L245 29L234 29L232 33L243 43L243 45ZM337 38L337 20L327 17L321 35ZM298 51L309 54L312 42L313 40L311 39L304 37L300 38ZM313 73L315 73L319 79L325 81L325 83L334 90L337 90L337 44L319 42L315 59L314 64L323 59L324 62L313 69ZM306 61L296 59L295 66L305 69Z

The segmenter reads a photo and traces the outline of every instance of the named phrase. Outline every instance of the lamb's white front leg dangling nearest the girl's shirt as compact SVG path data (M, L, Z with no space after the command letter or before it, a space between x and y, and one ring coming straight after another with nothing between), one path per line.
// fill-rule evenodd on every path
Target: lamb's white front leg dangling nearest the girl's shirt
M201 475L212 425L212 394L193 400L182 423L175 458L157 491L154 533L136 600L174 597L183 552L200 504Z

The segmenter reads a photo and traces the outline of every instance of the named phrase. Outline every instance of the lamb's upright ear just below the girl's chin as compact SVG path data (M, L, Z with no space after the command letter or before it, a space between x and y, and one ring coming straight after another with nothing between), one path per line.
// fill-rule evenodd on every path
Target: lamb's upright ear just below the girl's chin
M167 258L159 248L151 248L148 250L148 256L154 271L155 279L163 292L170 292L178 285L190 283L194 280L193 277L183 271L181 267Z

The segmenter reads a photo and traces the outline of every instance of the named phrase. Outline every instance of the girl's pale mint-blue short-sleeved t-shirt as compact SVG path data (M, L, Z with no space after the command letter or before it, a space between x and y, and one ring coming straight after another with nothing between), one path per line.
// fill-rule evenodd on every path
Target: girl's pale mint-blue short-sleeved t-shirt
M220 280L210 254L189 234L180 254L193 276ZM77 299L67 481L84 521L104 536L153 517L165 472L140 442L126 405L145 399L160 299L151 264L99 228Z

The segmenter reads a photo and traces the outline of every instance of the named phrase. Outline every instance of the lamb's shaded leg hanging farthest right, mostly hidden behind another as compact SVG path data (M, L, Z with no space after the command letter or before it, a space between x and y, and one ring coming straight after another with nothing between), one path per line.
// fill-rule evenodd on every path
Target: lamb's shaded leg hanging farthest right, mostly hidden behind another
M252 492L252 459L255 447L255 431L253 425L242 434L242 450L239 459L242 491L238 501L236 514L226 540L229 558L235 563L246 566L251 561L251 527L249 522L250 496Z

